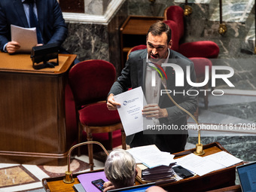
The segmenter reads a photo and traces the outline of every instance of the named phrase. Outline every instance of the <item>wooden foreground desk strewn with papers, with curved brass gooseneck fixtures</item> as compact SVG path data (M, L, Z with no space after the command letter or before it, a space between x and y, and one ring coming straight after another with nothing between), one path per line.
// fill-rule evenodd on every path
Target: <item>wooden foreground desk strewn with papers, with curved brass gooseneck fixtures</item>
M190 153L193 152L195 149L182 151L181 153ZM220 144L217 142L204 145L204 150L206 152L206 155L214 154L219 151L226 151ZM178 154L181 154L178 153ZM181 156L180 156L181 157ZM227 187L231 186L235 182L236 178L236 166L241 165L242 163L238 163L234 166L230 166L226 169L220 169L215 172L210 172L209 174L203 175L203 176L195 176L193 178L186 178L181 181L175 181L172 183L169 183L168 181L159 181L157 182L157 185L163 187L164 189L168 191L206 191L206 190L213 190L218 189L221 187ZM99 170L98 170L99 171ZM81 174L81 173L80 173ZM77 176L80 174L74 174L73 178L75 178L75 183L72 184L65 184L63 183L62 179L63 177L57 177L57 178L44 178L42 183L44 186L44 189L47 192L50 191L74 191L72 189L72 186L74 184L78 184L78 178ZM136 184L140 184L138 180L136 180Z

